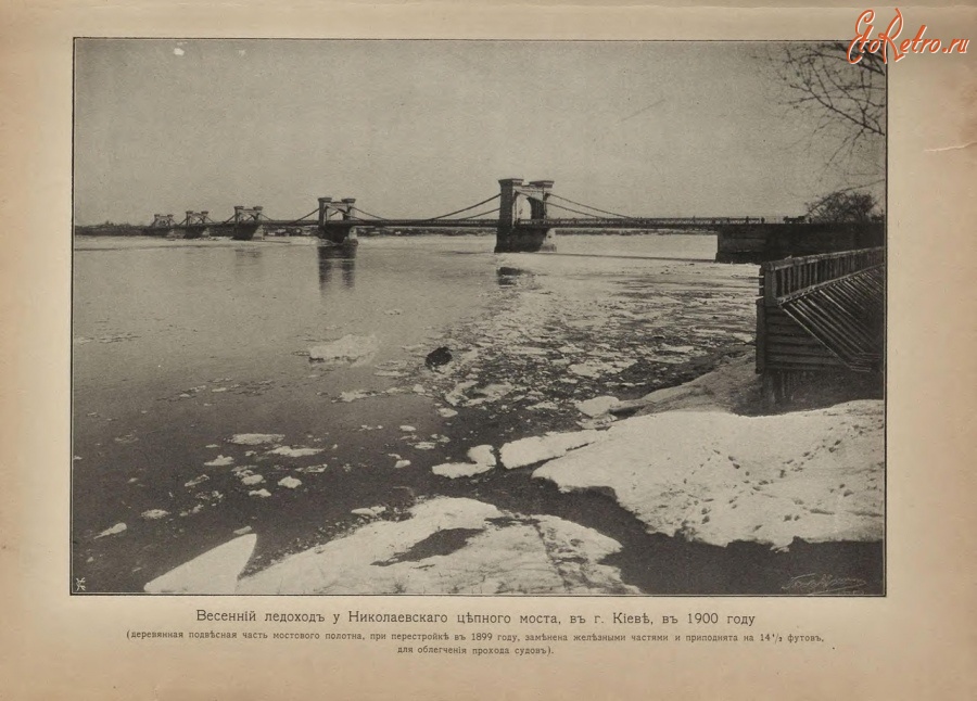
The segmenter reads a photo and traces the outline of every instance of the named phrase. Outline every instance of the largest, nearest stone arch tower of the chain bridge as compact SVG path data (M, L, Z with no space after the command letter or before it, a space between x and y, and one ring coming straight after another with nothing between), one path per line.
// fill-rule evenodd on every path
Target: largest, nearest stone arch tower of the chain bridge
M496 253L556 251L556 242L548 219L546 201L553 180L524 182L522 178L498 181L502 190L498 205ZM522 204L529 202L529 219L522 216Z

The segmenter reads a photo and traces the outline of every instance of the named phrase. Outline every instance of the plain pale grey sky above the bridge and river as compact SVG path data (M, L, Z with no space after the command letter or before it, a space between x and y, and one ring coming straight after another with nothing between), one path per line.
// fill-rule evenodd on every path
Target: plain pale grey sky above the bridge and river
M750 42L79 40L77 224L355 196L427 217L551 179L635 216L779 216L852 184ZM884 161L884 154L862 154ZM879 166L880 170L880 166ZM880 188L876 194L881 194ZM554 214L557 214L556 212ZM572 215L571 215L572 216Z

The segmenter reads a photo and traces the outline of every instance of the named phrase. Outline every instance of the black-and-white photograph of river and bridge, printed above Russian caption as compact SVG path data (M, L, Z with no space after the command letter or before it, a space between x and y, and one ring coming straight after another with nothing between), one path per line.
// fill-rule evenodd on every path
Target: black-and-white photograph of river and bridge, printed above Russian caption
M849 51L76 39L65 585L884 596Z

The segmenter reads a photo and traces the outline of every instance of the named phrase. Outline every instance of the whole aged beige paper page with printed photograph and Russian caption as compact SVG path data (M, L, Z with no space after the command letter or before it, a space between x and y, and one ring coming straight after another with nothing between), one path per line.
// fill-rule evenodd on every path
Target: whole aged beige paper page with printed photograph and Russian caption
M975 51L961 41L977 35L977 12L875 8L868 21L866 10L0 10L0 696L974 696L977 74ZM689 392L684 383L738 361L746 372L737 377L760 387L759 262L736 259L738 248L714 262L715 229L756 231L759 221L813 232L814 221L783 219L812 216L804 205L817 188L849 184L830 175L840 157L833 149L805 145L828 127L803 116L803 105L784 116L784 93L758 103L750 66L762 66L751 62L772 49L897 30L898 40L878 44L890 52L885 119L873 123L885 145L841 144L846 177L865 176L859 187L867 183L876 205L865 231L885 231L884 403L852 385L846 398L855 404L843 410L816 399L795 407L798 421L826 422L816 464L845 464L871 435L879 453L884 437L885 454L870 450L871 464L858 462L863 471L827 485L830 496L815 494L812 506L813 492L774 489L810 457L783 447L810 423L744 409L735 393L727 399L740 403L738 413L718 408L702 398L720 394L716 385ZM894 61L914 37L915 49ZM368 41L379 39L389 41ZM420 39L430 41L407 41ZM319 74L330 78L315 81ZM684 95L684 107L670 94ZM335 145L320 151L323 143ZM498 239L435 230L430 241L444 239L444 250L420 256L409 238L371 237L368 225L392 229L391 220L436 229L453 203L479 199L472 180L492 196L452 212L452 221L462 229L472 226L466 216L488 208L494 217L496 207ZM385 219L358 209L372 203ZM180 206L195 211L167 219ZM588 239L559 228L573 228L581 207L592 225L612 229L600 256L587 257ZM110 239L119 224L138 225L138 235ZM639 246L650 237L617 235L625 224L672 235L656 237L663 247L649 254ZM73 225L97 235L73 237ZM316 225L322 245L340 253L309 246L316 255L304 256L279 241ZM708 237L696 233L701 226ZM249 240L234 241L242 231ZM185 240L193 238L204 241ZM554 240L556 264L519 263L547 255ZM880 243L858 241L828 250ZM370 251L388 256L383 266L371 267L379 258ZM444 272L448 264L455 273ZM705 289L699 270L708 304L695 296ZM627 306L644 294L627 285L649 275L670 292ZM586 286L598 284L587 276L602 286ZM599 311L587 306L592 290L607 294ZM484 311L496 303L497 313ZM563 326L544 323L541 309ZM790 314L803 320L803 309ZM811 326L823 321L811 314ZM600 326L608 318L617 321ZM686 322L706 332L670 335ZM460 332L442 335L448 328L466 329L467 345ZM595 328L604 343L586 346ZM391 334L398 341L388 343ZM716 334L739 347L721 347ZM842 356L864 351L839 343ZM492 365L493 344L517 348L509 365ZM639 347L648 344L657 355ZM711 355L699 354L706 345ZM188 357L195 365L180 365ZM640 399L649 358L661 374L647 392L686 387L655 399L680 410L614 415L619 399L604 395ZM340 377L359 384L341 386ZM371 413L380 403L396 410ZM631 408L645 415L648 402ZM642 425L651 429L627 434ZM672 425L677 433L663 428ZM544 441L550 430L572 436L554 448ZM600 436L613 431L640 455L609 451ZM744 438L750 431L756 437ZM513 447L524 436L531 442ZM734 439L761 457L734 455ZM698 451L708 454L700 467L722 460L735 482L678 474L669 487L676 499L693 490L689 477L700 480L701 494L682 502L687 518L672 513L677 501L662 515L627 500L647 473L613 481L625 458L664 471L674 467L667 453ZM783 457L776 470L772 455ZM560 459L537 466L551 458ZM581 461L605 481L574 472ZM825 506L850 495L864 501ZM766 515L740 523L728 506L737 498ZM773 501L786 505L775 518L762 507ZM804 531L808 523L829 525ZM198 559L221 544L237 549ZM323 552L315 565L289 559Z

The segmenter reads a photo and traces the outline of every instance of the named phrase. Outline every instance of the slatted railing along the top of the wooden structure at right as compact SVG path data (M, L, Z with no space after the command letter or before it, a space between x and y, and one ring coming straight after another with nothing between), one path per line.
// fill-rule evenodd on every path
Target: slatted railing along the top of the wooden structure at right
M769 306L783 304L813 286L885 262L886 250L881 247L771 260L760 266L760 295Z

